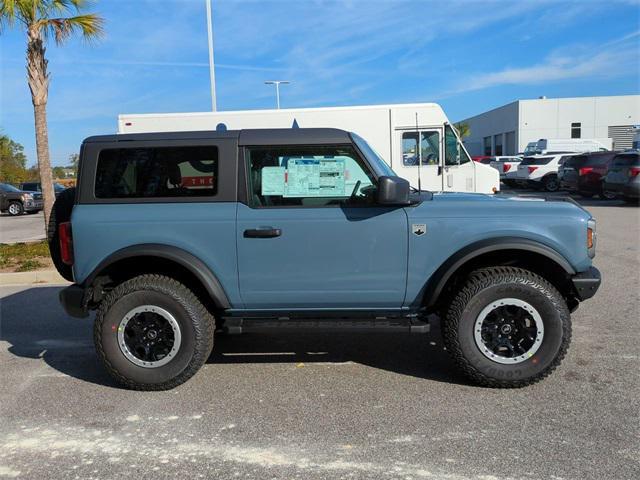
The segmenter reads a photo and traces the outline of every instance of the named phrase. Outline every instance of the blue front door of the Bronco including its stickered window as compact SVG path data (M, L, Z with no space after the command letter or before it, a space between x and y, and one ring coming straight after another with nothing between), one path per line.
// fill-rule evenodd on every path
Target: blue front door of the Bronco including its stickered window
M399 309L407 215L376 205L376 178L351 145L249 147L238 204L246 309Z

